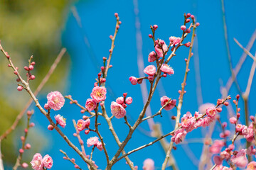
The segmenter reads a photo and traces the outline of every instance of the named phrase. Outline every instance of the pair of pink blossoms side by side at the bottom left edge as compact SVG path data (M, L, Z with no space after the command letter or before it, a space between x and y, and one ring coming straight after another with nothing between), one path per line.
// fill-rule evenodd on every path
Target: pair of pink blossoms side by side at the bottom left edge
M36 153L31 161L31 166L32 169L35 170L43 170L44 168L51 169L53 166L53 159L48 154L42 157L41 154Z

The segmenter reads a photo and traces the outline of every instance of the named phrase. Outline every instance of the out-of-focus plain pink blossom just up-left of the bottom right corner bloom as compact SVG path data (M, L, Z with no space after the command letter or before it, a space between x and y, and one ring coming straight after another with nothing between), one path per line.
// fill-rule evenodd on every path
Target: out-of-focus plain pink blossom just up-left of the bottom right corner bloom
M238 154L233 155L230 161L240 168L244 168L248 164L245 149L241 149Z

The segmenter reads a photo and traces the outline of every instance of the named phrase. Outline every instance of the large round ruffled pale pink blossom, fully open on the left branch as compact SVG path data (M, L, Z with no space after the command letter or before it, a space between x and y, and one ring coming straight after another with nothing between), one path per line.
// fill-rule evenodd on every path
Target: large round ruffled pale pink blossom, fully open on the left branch
M59 91L51 91L50 94L47 95L47 100L47 106L52 108L54 111L60 110L65 103L65 98Z

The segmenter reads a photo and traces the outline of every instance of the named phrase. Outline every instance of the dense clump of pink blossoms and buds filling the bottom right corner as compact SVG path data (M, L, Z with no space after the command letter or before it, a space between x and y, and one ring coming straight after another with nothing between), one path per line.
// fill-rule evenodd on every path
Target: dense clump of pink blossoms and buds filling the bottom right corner
M234 169L235 166L239 168L246 169L256 169L256 162L250 162L248 164L247 157L251 157L256 154L256 149L253 145L247 147L245 149L235 150L235 140L238 136L244 137L247 142L252 142L255 140L255 132L253 130L253 125L255 125L255 118L253 116L250 117L252 123L247 127L246 125L238 124L238 120L240 118L240 108L238 108L238 99L239 95L236 96L236 100L233 101L236 106L236 117L230 118L230 123L235 125L235 135L232 140L232 144L227 145L226 140L215 140L213 145L210 146L209 151L211 154L214 154L213 161L215 163L215 170L217 169ZM227 127L227 123L222 123L223 132L220 133L220 137L224 138L230 135L229 130L225 130ZM223 149L224 147L224 149ZM217 154L217 155L216 155ZM227 162L230 167L223 166L223 161Z

